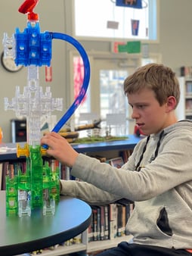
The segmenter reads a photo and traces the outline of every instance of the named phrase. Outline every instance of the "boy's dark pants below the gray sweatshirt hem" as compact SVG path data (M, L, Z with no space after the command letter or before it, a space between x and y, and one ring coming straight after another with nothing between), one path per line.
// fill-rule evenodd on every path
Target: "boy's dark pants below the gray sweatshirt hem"
M190 252L185 250L175 250L159 246L129 244L121 242L115 248L103 251L98 256L191 256Z

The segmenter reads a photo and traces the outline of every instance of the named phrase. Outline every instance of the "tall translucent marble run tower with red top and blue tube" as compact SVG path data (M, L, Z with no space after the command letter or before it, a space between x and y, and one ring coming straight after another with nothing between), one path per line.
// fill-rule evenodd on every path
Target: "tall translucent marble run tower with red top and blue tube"
M88 89L90 66L88 56L76 39L63 33L41 32L39 15L33 12L39 0L26 0L19 11L27 14L27 24L23 32L16 28L9 38L4 34L3 45L5 58L14 58L16 65L27 67L27 86L23 93L16 87L14 98L5 98L5 110L13 110L16 116L26 117L26 145L17 145L17 157L26 157L26 170L17 170L12 176L6 176L7 215L18 214L30 216L34 208L42 208L42 213L54 214L59 201L59 168L54 169L46 162L43 164L46 146L40 145L41 117L51 115L52 111L62 111L62 98L52 98L50 87L45 92L39 86L39 67L51 66L51 45L53 39L70 42L79 52L84 63L84 80L82 89L68 111L54 126L58 132L78 108Z

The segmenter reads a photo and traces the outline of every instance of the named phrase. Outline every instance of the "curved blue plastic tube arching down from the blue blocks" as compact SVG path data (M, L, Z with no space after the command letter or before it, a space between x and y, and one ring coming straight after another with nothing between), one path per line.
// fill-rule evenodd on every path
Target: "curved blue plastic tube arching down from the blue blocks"
M78 50L84 64L84 80L83 80L79 95L76 97L75 101L73 101L73 104L70 106L67 112L63 114L63 117L60 118L60 120L52 130L52 132L58 133L62 128L62 126L67 122L67 120L70 119L70 117L76 111L76 108L78 108L79 104L82 102L82 99L85 96L85 93L87 92L88 83L90 80L90 64L89 64L88 55L86 54L85 49L76 39L63 33L54 33L54 32L52 33L52 38L61 39L61 40L70 42L70 44L72 44Z

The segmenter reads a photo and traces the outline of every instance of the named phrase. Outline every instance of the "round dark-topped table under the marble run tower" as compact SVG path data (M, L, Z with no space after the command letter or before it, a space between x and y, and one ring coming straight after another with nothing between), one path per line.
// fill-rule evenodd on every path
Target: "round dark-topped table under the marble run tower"
M84 201L60 196L54 215L6 216L5 191L0 192L0 255L16 255L47 248L79 235L91 223L91 208Z

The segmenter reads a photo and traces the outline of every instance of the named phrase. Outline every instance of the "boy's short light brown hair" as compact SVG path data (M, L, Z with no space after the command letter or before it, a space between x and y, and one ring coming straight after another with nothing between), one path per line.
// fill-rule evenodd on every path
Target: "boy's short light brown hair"
M156 100L162 106L169 96L176 99L175 108L180 98L178 79L171 68L163 64L147 64L139 67L135 73L128 76L124 82L125 94L134 94L142 89L153 90Z

